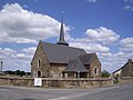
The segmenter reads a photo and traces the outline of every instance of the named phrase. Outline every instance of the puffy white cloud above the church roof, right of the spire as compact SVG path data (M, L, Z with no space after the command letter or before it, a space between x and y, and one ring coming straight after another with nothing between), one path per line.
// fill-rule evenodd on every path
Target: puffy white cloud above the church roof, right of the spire
M120 36L111 29L100 27L96 29L88 29L83 38L70 38L70 46L80 47L88 52L109 52L108 47L119 41Z

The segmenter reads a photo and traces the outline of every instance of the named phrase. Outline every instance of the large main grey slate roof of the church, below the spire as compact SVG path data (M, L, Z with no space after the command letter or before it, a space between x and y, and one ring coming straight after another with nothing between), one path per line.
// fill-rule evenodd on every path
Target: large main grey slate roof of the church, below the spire
M72 48L42 41L41 43L47 54L47 58L52 63L69 63L69 59L78 58L80 54L86 53L83 49L79 48Z

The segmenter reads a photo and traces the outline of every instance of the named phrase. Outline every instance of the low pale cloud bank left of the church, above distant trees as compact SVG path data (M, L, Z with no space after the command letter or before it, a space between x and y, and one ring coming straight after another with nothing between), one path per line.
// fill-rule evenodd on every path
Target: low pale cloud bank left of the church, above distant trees
M17 51L10 48L0 48L0 61L3 61L3 70L25 70L30 71L30 62L34 48L25 48Z

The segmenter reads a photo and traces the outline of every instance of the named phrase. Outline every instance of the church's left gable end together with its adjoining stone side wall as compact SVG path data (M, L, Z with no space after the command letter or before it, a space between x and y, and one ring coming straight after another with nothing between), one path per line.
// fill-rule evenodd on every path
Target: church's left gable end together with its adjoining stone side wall
M40 61L39 61L40 60ZM43 51L41 42L39 42L34 57L31 61L31 76L33 78L57 78L60 77L66 64L50 63Z

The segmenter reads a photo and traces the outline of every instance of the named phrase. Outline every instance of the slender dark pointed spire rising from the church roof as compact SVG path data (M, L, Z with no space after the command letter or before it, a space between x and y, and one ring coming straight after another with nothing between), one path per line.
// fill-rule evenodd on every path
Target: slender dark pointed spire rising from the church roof
M60 38L57 44L69 46L69 43L64 40L63 12L62 12L62 19L61 19Z

